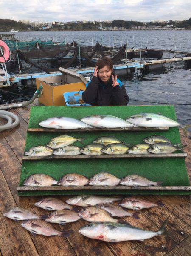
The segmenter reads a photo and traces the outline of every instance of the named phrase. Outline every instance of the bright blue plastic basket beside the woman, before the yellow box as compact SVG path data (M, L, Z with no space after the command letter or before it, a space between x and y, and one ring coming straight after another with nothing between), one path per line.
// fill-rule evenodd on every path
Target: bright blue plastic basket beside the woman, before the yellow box
M82 101L81 95L83 92L84 91L63 93L66 106L90 106L90 104L87 104L84 101Z

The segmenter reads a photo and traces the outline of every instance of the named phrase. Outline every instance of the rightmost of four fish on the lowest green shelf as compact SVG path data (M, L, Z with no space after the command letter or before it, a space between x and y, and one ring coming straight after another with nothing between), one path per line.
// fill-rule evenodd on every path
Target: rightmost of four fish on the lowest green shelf
M147 178L138 175L128 175L121 179L120 184L125 186L160 186L163 181L149 181Z

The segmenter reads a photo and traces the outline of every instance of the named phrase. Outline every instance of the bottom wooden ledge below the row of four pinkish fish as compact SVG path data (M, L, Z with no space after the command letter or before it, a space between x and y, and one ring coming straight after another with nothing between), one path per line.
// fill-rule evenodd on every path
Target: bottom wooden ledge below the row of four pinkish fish
M191 190L191 186L20 186L18 191L46 190Z

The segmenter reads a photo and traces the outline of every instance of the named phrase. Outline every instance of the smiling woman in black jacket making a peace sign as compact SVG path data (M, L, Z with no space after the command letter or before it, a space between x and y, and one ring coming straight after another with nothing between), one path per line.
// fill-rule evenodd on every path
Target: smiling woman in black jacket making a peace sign
M113 63L104 57L95 65L93 78L86 84L82 100L93 106L127 105L129 97L125 86L114 77Z

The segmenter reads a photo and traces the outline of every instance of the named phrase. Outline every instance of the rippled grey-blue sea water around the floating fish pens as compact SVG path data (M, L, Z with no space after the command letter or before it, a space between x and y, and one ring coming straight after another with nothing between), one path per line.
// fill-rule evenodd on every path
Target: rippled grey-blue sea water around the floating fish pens
M96 42L105 46L117 46L128 43L128 48L175 49L178 51L191 52L191 31L71 31L71 32L18 32L20 40L38 39L72 42L81 45L95 45ZM177 57L180 55L177 55ZM173 57L173 54L170 55ZM163 58L169 58L164 53ZM178 121L181 124L191 124L191 70L186 63L168 63L165 69L141 74L138 71L132 78L120 77L126 85L130 98L129 105L149 104L181 104L174 105ZM0 91L0 104L7 102L26 101L31 98L34 88L15 87L9 94ZM8 91L8 89L5 89ZM17 95L19 94L19 95ZM21 96L23 95L24 96ZM28 96L29 97L28 97ZM185 105L190 104L190 105Z

